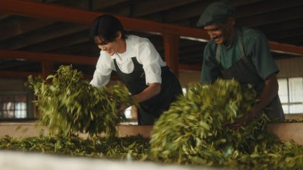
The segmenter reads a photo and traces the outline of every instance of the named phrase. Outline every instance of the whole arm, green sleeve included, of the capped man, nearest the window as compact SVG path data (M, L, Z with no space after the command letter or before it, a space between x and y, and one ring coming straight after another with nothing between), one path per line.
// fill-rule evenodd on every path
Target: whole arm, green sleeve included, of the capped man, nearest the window
M250 35L253 36L246 36L244 46L247 49L247 56L251 56L251 62L259 76L264 80L264 89L258 96L259 101L253 105L246 116L230 125L233 129L238 129L241 125L253 120L278 95L276 74L278 74L279 70L271 56L268 40L260 32L250 32Z

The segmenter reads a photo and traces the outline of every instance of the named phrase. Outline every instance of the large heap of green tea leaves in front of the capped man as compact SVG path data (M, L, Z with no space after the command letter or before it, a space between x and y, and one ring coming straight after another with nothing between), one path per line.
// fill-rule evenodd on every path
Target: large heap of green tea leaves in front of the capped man
M264 113L237 131L223 126L244 116L255 98L251 87L233 80L189 85L187 94L156 121L150 158L240 169L303 169L303 147L271 136Z

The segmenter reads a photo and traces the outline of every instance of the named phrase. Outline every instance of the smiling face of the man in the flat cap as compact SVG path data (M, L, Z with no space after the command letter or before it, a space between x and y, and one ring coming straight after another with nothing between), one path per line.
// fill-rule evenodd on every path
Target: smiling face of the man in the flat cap
M213 23L211 25L205 26L204 30L217 44L222 44L226 41L231 41L233 34L233 25L234 20L227 21L226 23Z

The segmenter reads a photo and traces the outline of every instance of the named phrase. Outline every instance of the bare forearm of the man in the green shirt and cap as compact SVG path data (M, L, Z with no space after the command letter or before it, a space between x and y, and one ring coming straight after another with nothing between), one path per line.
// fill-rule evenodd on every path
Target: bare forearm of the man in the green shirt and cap
M278 95L278 80L275 74L271 74L265 81L265 87L259 96L259 101L253 106L254 114L259 114L260 111L265 109L271 100Z

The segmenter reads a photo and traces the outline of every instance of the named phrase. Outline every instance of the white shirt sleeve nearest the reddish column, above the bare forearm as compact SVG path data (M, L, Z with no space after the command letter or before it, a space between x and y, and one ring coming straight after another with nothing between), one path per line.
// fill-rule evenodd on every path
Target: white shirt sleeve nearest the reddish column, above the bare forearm
M163 63L163 60L148 39L141 39L138 62L143 65L147 85L150 83L162 83L160 63Z

